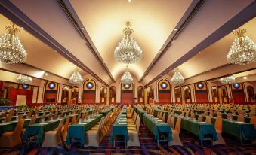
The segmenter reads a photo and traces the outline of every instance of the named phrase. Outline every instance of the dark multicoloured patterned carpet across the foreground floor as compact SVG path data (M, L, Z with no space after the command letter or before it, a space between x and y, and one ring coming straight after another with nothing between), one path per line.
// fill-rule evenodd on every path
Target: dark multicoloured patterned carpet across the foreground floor
M0 149L0 154L256 154L255 145L241 145L235 137L226 134L224 134L224 139L227 145L211 146L210 141L205 141L204 146L201 147L198 139L194 135L189 132L181 131L180 139L184 147L169 147L168 144L164 142L157 147L157 143L153 140L151 132L141 124L139 133L141 147L125 148L122 143L116 144L116 147L112 147L109 144L110 132L111 131L103 138L100 147L80 148L79 144L75 143L72 144L70 150L65 149L63 145L57 148L42 147L38 149L36 144L31 145L29 148L24 144L14 147L11 150Z

